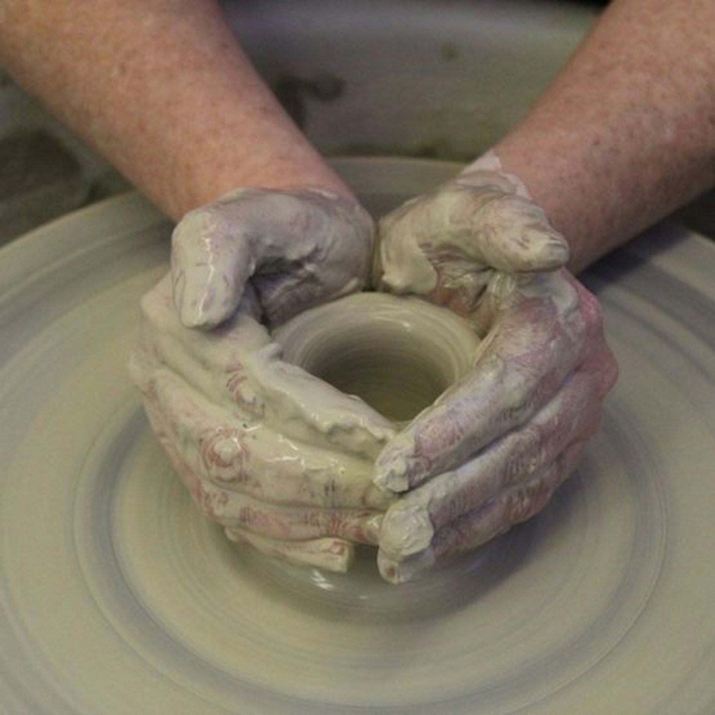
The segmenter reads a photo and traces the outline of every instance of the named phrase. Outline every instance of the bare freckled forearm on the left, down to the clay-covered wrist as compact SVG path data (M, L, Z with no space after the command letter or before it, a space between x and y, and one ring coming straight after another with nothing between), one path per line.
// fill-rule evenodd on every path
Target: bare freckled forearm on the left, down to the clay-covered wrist
M9 0L0 61L178 219L241 185L350 195L214 0Z

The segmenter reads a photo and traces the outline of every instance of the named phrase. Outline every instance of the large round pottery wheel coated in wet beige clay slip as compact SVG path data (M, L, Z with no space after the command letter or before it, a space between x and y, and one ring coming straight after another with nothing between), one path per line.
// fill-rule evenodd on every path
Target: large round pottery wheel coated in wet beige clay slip
M454 170L339 168L384 209ZM586 277L621 366L538 518L415 586L282 567L194 511L125 363L169 226L134 194L0 255L0 711L715 711L715 245Z

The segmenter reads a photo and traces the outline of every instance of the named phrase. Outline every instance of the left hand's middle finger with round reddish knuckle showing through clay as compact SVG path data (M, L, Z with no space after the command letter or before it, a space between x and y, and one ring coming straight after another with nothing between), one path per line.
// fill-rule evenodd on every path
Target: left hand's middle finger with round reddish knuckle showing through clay
M287 439L242 421L166 370L144 395L159 433L192 473L215 485L285 506L382 509L390 496L370 480L372 465L339 451Z

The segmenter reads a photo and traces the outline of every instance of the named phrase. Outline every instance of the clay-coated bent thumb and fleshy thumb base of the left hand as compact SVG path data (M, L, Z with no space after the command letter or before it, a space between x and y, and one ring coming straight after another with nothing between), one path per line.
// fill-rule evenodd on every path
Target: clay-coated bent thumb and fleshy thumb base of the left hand
M250 283L262 317L280 325L359 291L374 226L360 205L323 189L236 189L189 212L172 237L174 302L187 327L231 317Z

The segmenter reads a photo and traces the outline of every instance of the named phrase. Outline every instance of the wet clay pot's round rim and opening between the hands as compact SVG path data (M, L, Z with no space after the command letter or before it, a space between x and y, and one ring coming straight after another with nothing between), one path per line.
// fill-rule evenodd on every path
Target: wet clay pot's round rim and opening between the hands
M479 342L450 310L380 292L302 312L275 339L287 362L357 396L398 427L468 372Z

